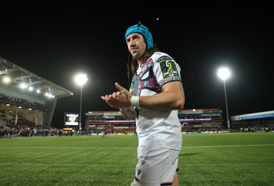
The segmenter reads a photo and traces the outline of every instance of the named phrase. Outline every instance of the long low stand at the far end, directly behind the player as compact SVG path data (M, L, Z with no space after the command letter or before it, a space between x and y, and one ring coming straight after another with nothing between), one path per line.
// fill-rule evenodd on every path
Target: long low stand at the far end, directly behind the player
M223 117L219 108L178 111L182 132L222 131ZM85 114L86 129L92 132L106 130L107 133L134 133L135 121L126 119L119 111L90 111Z

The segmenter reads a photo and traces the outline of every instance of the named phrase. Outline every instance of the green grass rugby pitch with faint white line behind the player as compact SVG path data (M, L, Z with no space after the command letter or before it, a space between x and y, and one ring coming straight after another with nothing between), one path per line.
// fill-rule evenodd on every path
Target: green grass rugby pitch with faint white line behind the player
M0 185L129 186L134 136L0 139ZM180 185L274 185L274 132L183 135Z

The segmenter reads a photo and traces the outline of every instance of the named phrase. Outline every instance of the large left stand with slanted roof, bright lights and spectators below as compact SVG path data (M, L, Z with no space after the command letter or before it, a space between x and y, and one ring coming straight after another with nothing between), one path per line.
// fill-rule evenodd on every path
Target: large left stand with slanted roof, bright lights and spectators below
M27 121L27 124L50 127L57 100L73 95L62 86L1 57L0 78L0 112L10 116L15 124Z

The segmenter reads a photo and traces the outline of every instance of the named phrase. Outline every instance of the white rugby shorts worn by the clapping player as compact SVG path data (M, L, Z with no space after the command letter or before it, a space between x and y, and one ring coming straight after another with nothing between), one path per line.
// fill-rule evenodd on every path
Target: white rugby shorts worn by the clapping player
M134 183L142 186L172 185L178 156L179 150L139 146Z

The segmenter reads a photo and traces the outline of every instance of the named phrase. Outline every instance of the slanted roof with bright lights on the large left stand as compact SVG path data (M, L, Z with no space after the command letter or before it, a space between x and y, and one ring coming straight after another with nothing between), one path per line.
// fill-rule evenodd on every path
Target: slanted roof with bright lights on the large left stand
M8 81L9 80L9 81ZM0 57L0 86L10 91L21 92L22 89L32 91L34 97L48 99L73 95L73 92L64 89L44 78L18 67L13 62ZM5 82L7 81L7 82ZM44 97L44 98L43 98Z

